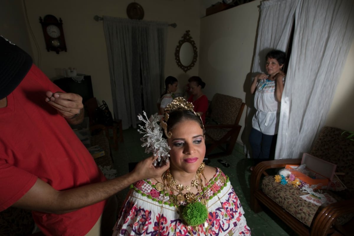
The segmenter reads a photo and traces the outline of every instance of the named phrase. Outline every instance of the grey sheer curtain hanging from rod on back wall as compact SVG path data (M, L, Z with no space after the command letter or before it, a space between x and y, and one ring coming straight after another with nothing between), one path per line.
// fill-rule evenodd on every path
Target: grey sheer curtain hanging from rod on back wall
M114 116L123 129L136 128L137 115L156 113L164 80L167 23L103 17ZM142 84L141 86L141 78Z

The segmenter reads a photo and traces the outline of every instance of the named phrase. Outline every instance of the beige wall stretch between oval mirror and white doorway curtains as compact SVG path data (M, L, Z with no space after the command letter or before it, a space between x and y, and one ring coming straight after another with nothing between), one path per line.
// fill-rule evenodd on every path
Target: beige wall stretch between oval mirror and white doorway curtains
M204 93L209 100L215 93L223 93L245 101L249 86L244 84L251 71L259 3L249 2L201 19L199 75L206 83ZM238 142L242 142L245 114L246 107Z

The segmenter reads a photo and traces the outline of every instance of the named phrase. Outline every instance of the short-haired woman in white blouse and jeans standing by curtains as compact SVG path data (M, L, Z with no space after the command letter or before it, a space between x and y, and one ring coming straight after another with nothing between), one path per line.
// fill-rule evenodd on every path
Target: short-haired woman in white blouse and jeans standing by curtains
M255 92L256 114L252 119L249 137L254 166L274 157L279 127L280 102L284 89L285 52L272 50L265 56L267 74L259 73L251 85ZM253 166L250 170L252 171Z

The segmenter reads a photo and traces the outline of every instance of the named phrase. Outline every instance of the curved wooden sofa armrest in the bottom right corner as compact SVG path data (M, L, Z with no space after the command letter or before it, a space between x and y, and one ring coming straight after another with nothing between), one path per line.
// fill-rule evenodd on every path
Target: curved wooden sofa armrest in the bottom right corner
M314 220L311 236L325 236L338 217L354 213L354 199L332 203L320 211Z

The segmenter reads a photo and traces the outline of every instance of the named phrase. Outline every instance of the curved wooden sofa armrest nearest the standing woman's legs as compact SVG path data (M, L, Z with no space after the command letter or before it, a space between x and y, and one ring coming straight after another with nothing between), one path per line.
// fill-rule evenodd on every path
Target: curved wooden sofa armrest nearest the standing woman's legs
M262 161L258 163L258 165L253 168L251 174L251 196L255 190L260 188L259 184L261 182L262 175L268 175L267 172L265 172L267 169L281 168L285 167L287 164L300 165L301 159L280 159L272 161Z

